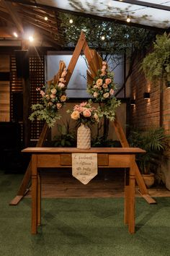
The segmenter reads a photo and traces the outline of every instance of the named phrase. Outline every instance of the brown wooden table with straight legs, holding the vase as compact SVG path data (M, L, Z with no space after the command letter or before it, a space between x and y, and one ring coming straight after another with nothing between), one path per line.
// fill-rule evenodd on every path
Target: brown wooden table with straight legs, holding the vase
M32 234L37 234L41 223L41 188L37 168L71 167L71 153L97 153L100 168L129 168L125 175L124 223L130 234L135 233L135 154L145 153L140 148L25 148L32 154Z

